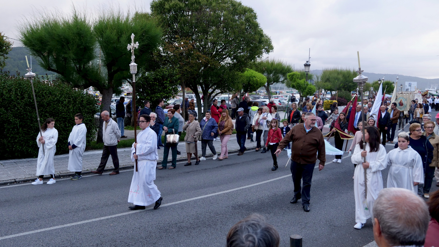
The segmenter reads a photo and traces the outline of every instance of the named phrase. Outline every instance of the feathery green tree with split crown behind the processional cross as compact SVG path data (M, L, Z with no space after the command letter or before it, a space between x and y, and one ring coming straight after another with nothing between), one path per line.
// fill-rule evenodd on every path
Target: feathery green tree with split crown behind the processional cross
M101 10L92 22L89 15L73 9L69 18L62 13L33 16L19 27L20 40L37 57L41 67L62 76L75 88L95 87L102 94L101 110L110 110L111 98L130 80L131 33L139 48L136 63L147 63L157 48L161 30L147 15L132 16L114 9ZM102 54L101 63L95 62ZM101 66L102 64L102 66ZM102 142L102 120L97 142Z

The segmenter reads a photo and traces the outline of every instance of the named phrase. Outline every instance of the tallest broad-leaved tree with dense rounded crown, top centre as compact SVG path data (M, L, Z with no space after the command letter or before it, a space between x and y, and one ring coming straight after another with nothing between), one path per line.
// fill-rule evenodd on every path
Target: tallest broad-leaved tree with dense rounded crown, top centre
M195 94L198 115L209 107L212 98L236 90L236 75L250 62L273 50L255 11L235 0L153 0L151 15L164 30L162 41L177 44L180 37L203 55L200 69L187 80Z

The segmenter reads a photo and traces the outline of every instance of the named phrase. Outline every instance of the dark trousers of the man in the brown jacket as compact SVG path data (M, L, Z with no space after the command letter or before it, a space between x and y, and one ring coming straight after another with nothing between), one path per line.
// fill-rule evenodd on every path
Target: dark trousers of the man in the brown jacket
M311 179L313 178L316 164L301 164L291 160L291 175L294 183L294 195L297 199L302 198L302 205L309 204L311 197ZM302 179L302 187L300 180Z

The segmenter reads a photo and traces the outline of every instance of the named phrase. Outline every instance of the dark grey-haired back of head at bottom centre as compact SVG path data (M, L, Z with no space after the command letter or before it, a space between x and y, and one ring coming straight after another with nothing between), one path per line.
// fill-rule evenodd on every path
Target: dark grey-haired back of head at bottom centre
M230 228L227 247L278 247L279 233L260 214L252 214Z

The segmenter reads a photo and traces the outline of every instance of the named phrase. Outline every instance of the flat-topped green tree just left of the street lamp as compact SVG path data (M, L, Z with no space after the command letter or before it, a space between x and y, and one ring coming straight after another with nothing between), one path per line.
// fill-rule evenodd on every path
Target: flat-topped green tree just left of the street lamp
M293 66L281 60L270 59L255 63L253 69L267 78L264 87L268 98L271 98L270 86L275 83L285 84L288 80L287 74L293 71Z

